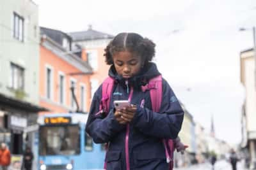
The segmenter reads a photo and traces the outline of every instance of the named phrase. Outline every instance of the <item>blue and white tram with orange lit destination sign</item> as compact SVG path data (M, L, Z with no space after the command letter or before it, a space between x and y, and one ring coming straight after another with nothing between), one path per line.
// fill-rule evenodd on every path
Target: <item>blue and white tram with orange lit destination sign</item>
M38 169L103 169L104 145L95 144L85 132L88 115L52 113L40 115Z

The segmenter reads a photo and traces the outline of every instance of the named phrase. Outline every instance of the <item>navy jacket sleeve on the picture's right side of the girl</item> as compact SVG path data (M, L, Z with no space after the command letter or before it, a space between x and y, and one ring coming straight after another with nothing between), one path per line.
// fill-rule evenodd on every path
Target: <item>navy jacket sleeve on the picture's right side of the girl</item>
M163 98L159 113L138 106L132 120L134 127L156 138L177 138L183 122L184 111L170 85L163 79Z

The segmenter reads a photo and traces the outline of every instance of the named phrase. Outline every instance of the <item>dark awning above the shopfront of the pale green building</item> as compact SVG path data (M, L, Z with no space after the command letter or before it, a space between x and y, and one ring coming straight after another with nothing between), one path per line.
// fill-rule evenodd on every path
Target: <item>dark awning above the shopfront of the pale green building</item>
M42 108L41 106L37 106L26 101L20 101L13 97L5 96L4 94L0 94L0 106L15 108L17 110L22 110L31 113L36 113L38 111L49 111L47 108Z

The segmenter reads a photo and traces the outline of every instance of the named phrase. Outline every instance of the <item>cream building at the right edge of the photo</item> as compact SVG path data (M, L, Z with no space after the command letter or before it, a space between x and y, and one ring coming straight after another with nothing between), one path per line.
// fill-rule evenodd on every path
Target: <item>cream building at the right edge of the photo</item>
M245 101L241 111L242 143L241 146L249 153L250 169L256 169L256 83L255 53L253 49L240 53L241 83L245 89Z

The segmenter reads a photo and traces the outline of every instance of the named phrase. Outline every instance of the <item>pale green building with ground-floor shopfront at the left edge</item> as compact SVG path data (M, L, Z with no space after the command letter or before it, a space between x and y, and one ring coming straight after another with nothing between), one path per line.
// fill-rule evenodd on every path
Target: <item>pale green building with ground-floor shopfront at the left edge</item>
M12 155L36 147L39 104L38 6L33 1L0 1L0 142Z

